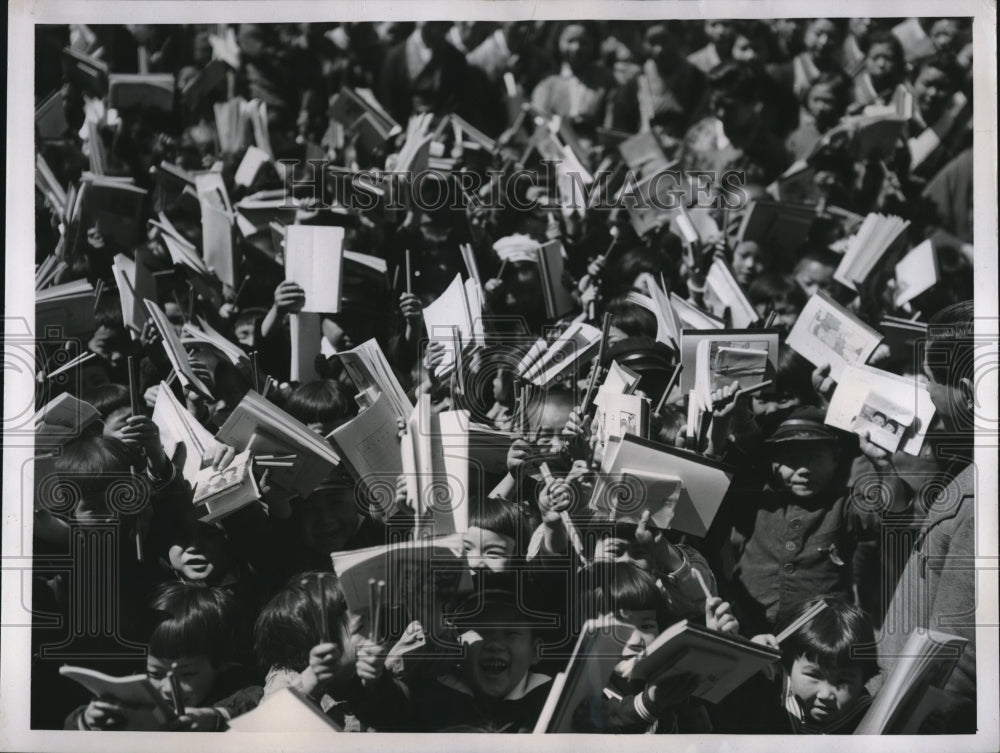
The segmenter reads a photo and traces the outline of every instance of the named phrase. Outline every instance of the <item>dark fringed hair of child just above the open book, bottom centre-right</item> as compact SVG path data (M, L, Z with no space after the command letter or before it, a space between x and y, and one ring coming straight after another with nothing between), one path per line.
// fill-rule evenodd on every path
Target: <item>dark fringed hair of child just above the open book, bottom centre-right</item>
M599 561L591 564L584 573L587 597L584 601L589 617L622 611L636 612L651 609L656 612L660 630L677 622L676 615L663 597L656 580L632 562Z

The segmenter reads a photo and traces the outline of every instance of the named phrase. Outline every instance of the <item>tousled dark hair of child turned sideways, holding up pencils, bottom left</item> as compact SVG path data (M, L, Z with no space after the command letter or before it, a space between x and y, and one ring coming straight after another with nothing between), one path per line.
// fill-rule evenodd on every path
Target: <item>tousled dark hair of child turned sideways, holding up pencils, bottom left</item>
M321 636L320 603L326 604L330 635ZM308 572L295 576L261 610L254 626L254 654L266 672L271 667L302 672L309 652L323 640L340 646L344 660L353 658L347 599L333 573Z

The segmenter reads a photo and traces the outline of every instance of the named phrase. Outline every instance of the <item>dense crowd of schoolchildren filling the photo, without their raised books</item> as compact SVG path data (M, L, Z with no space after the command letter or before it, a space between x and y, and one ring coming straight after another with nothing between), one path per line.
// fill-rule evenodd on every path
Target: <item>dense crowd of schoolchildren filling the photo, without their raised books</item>
M530 732L581 626L604 618L624 626L620 660L573 710L576 731L850 733L906 638L926 629L968 641L942 688L949 703L927 729L975 730L975 632L940 622L976 604L972 571L947 566L974 554L965 19L70 25L37 27L35 45L39 300L80 281L94 290L84 307L93 304L92 319L40 335L37 403L68 393L98 418L36 469L33 727L128 727L119 700L59 676L69 662L114 676L145 671L177 710L162 729L225 730L292 688L348 731ZM95 75L80 74L88 64ZM138 77L140 92L160 75L172 99L129 98L123 74ZM373 137L370 112L366 128L338 120L348 89L400 128ZM237 97L264 115L234 141L221 117ZM865 118L892 125L872 136ZM331 209L328 192L315 194L307 160L352 174L392 169L417 122L434 133L431 163L447 163L437 180L454 206L421 208L404 192L402 211ZM537 167L536 125L566 142L564 165L594 175L625 166L623 140L650 134L670 168L709 171L711 202L698 209L718 232L685 235L669 210L650 227L627 205L563 201L565 183L546 182L542 169L528 191L539 201L482 205L460 189L463 173ZM482 138L470 144L474 133ZM248 177L253 150L266 159ZM209 248L216 210L192 177L207 173L228 193L221 213L235 275ZM137 215L97 198L97 186L116 181L142 197ZM734 186L738 207L720 200ZM291 211L271 204L249 228L235 220L274 196L295 196ZM808 228L794 241L748 239L755 203L779 215L792 205ZM864 280L846 284L845 245L875 213L909 224ZM345 249L381 263L371 274L344 262L341 303L318 315L304 366L306 284L327 281L286 279L272 240L282 225L343 227ZM555 284L571 299L555 314L548 269L533 256L553 240L565 267ZM924 241L936 282L901 297L893 265ZM185 243L207 264L181 263L175 247ZM482 314L475 343L455 345L423 315L457 274L473 277L465 244ZM659 284L678 311L708 310L716 260L756 316L736 326L725 308L721 325L766 323L779 345L771 389L715 390L699 440L694 393L671 393L682 353L638 301ZM123 315L128 263L154 283L129 291L128 306L150 298L172 331ZM786 342L817 296L875 330L887 316L929 325L916 344L886 336L867 359L929 395L933 419L910 416L904 437L923 437L919 452L830 424L841 370ZM517 366L540 338L551 344L569 326L605 321L597 358L526 396ZM209 328L237 357L195 336ZM374 410L339 355L370 340L414 405L467 411L501 446L499 465L469 453L480 470L457 531L461 572L432 572L409 590L390 573L396 596L386 608L405 619L381 625L374 606L352 608L330 555L426 530L419 484L393 471L375 500L376 484L341 462L304 490L283 481L283 462L294 461L258 453L257 501L206 522L192 504L192 458L165 439L173 430L160 412L170 391L185 421L214 437L255 390L327 442ZM650 415L608 433L645 426L642 439L730 470L703 535L657 525L648 510L609 520L591 504L611 444L600 439L607 427L594 420L589 385L615 365L638 376L634 394L648 398ZM405 434L411 417L397 418ZM244 449L215 441L194 470L236 467ZM682 620L776 648L780 662L718 703L700 698L691 674L631 677Z

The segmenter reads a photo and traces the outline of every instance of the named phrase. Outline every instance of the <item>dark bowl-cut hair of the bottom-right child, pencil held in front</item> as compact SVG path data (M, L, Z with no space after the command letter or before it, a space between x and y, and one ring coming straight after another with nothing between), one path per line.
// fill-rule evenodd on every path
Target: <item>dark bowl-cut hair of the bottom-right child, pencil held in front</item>
M877 675L871 620L843 599L824 597L803 602L786 619L779 620L775 631L784 629L819 602L825 602L826 609L792 633L781 646L785 669L791 671L792 664L801 657L825 669L860 667L865 681Z

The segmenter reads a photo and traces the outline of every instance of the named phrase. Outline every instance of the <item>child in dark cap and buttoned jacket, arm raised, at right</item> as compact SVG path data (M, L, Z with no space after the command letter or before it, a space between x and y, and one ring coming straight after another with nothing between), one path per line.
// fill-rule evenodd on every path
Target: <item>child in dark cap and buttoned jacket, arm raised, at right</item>
M727 501L723 555L731 563L729 600L757 633L771 632L779 617L816 595L851 600L858 541L878 535L884 512L912 503L912 494L887 494L873 476L848 487L850 458L818 408L791 413L764 446L763 488L734 484L742 491Z

